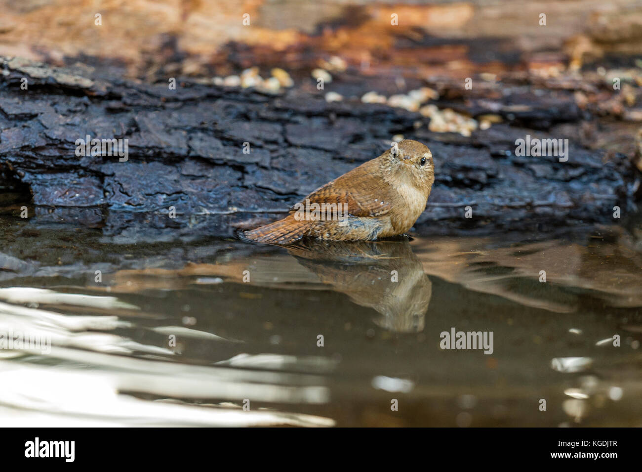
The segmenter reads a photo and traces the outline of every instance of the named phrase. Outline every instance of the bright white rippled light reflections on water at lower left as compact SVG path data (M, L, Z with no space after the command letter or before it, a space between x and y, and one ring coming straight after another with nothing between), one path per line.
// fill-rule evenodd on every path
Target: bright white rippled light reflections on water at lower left
M0 289L12 302L91 308L138 307L116 297L97 297L30 288ZM103 299L103 300L101 300ZM266 408L244 411L220 408L214 402L250 399L252 402L319 404L329 401L325 378L317 374L279 372L297 365L299 370L328 372L331 361L320 356L277 356L271 362L250 362L261 356L234 356L220 365L172 362L171 349L142 344L113 333L132 328L132 322L115 315L66 315L58 311L26 308L0 302L0 331L28 333L47 338L47 353L33 346L2 349L0 360L0 411L5 426L333 426L328 418ZM180 326L153 329L159 333L230 341L213 333ZM47 355L43 355L47 354ZM124 355L123 355L124 354ZM239 361L243 369L236 369ZM51 367L55 363L55 367ZM227 365L226 365L227 364ZM270 371L266 369L272 369ZM146 399L136 396L146 396ZM152 396L154 399L148 399ZM168 403L171 400L171 403ZM196 401L211 401L208 405Z

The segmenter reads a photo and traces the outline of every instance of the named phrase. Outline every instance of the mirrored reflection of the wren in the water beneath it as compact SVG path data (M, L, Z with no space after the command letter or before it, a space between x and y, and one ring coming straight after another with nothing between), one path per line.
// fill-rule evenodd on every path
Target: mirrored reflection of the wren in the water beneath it
M383 315L381 328L399 333L424 329L432 284L404 237L385 241L303 240L288 252L336 292Z

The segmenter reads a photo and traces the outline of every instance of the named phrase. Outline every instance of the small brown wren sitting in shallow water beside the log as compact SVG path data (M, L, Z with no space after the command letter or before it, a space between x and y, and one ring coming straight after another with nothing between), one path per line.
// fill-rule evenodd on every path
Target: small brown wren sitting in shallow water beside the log
M304 236L373 241L403 234L426 209L433 182L435 166L428 147L404 139L313 191L282 220L248 231L245 237L284 244Z

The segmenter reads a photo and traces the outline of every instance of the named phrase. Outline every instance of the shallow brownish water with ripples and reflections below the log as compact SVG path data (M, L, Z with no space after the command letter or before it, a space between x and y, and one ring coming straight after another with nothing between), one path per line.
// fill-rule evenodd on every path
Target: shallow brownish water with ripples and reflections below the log
M0 228L0 332L51 342L0 349L5 425L642 426L635 232L282 248ZM492 331L492 353L442 349L453 328Z

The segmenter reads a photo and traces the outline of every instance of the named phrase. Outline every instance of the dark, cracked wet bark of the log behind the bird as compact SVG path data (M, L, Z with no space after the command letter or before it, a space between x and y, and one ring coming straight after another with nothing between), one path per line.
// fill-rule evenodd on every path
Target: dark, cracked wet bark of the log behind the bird
M614 205L632 211L639 187L625 155L583 148L572 135L564 136L571 138L568 162L516 157L517 138L557 139L553 127L587 118L572 90L538 94L505 85L492 100L460 100L473 116L505 119L462 137L429 132L428 118L403 109L327 103L297 90L272 96L180 81L170 90L167 83L95 78L82 67L19 59L0 67L4 186L31 192L30 216L35 211L39 222L74 220L134 239L197 230L231 236L376 157L395 134L428 144L435 156L437 178L419 232L612 223ZM74 143L86 135L128 139L128 161L76 157ZM471 219L464 218L467 205ZM171 206L176 218L168 216Z

